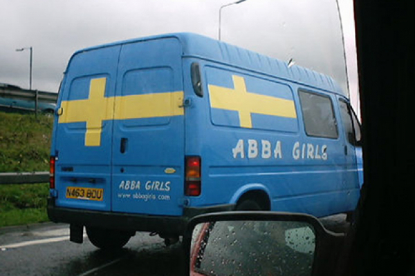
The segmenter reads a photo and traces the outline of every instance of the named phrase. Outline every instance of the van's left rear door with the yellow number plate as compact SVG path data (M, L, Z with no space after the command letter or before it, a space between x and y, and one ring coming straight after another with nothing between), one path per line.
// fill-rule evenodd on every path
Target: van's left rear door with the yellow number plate
M56 205L111 210L113 102L120 46L77 52L55 121Z

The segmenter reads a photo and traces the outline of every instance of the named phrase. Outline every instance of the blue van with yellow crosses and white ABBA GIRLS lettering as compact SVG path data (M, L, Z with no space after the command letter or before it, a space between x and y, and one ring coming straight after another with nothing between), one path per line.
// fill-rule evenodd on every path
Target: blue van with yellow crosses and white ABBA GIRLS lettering
M351 212L360 126L325 75L197 34L86 48L68 63L50 158L52 221L100 248L166 239L194 215Z

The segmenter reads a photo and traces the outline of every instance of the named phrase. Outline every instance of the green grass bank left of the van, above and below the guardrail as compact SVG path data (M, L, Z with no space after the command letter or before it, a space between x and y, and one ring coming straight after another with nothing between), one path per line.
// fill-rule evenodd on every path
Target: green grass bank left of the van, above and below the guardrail
M0 172L49 170L53 117L0 112ZM48 184L0 185L0 227L48 221Z

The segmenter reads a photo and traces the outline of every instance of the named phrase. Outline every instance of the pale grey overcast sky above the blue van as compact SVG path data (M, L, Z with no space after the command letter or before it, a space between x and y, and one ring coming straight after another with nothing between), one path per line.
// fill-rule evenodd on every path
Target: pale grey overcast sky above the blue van
M351 97L357 77L352 0L338 0L347 45ZM217 39L219 8L232 0L0 0L0 82L57 91L75 50L169 32ZM334 77L346 89L335 0L246 0L222 10L223 41ZM355 108L356 109L356 108Z

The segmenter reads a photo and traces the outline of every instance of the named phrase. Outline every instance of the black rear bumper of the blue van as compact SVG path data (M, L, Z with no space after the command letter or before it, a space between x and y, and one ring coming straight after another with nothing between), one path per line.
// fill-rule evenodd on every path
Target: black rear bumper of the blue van
M62 208L55 206L55 200L48 199L48 217L54 222L129 231L156 232L163 235L183 235L187 221L196 215L230 210L234 210L234 204L203 208L184 207L183 216L173 217Z

